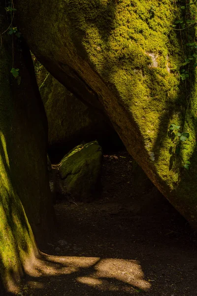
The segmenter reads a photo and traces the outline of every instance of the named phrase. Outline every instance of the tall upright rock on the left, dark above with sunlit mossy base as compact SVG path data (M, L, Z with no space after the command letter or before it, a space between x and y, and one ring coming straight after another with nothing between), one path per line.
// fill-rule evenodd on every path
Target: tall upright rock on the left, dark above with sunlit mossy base
M4 31L9 23L1 4ZM35 240L42 245L53 229L46 115L30 52L15 39L4 34L0 45L0 295L15 289L38 255ZM21 82L10 73L13 66Z

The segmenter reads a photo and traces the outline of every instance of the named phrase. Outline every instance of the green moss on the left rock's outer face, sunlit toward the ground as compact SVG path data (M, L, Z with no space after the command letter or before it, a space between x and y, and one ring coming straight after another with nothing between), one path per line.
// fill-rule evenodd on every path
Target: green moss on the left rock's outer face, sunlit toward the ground
M31 265L37 247L13 182L16 172L10 157L10 149L14 147L13 143L10 146L13 140L10 122L13 109L9 88L11 61L4 48L3 43L0 55L0 282L6 290L12 291L18 285L23 270Z

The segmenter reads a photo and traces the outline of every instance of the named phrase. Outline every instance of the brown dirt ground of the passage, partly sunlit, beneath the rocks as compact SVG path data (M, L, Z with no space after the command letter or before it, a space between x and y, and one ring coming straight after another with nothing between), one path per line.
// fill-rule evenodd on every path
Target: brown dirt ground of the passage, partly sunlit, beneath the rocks
M13 295L197 296L196 232L126 151L101 176L100 199L56 204L57 233Z

